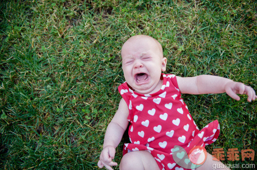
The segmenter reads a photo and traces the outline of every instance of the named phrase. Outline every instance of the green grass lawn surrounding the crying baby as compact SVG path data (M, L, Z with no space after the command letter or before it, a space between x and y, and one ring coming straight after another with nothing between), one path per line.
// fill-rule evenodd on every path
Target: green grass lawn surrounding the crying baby
M256 8L246 0L1 1L0 168L97 169L121 99L121 46L132 35L161 42L167 73L223 76L257 90ZM199 128L221 125L208 152L256 151L256 101L182 97Z

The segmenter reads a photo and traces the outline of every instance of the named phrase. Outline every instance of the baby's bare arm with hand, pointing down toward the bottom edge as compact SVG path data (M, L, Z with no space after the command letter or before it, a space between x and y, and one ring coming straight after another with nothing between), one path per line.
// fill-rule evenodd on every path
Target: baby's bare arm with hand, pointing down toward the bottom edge
M115 156L115 148L119 145L122 136L128 126L128 106L125 100L122 98L119 104L119 108L111 121L109 123L103 142L103 149L100 154L100 159L98 161L98 167L102 168L105 166L107 169L113 169L111 166L116 166L117 163L113 162Z

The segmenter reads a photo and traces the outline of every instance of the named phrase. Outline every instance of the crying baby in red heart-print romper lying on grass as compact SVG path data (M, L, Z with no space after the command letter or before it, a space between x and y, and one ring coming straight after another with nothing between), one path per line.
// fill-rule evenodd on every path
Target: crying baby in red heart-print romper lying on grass
M217 120L199 130L189 113L181 93L210 94L226 92L239 100L255 100L255 91L243 83L210 75L182 78L163 74L167 59L161 44L146 35L129 38L121 50L122 69L126 82L119 86L122 99L109 123L98 166L113 169L115 149L129 125L131 143L124 144L120 169L186 169L173 159L175 146L190 152L195 146L204 147L214 142L219 134ZM198 159L200 159L199 156ZM209 153L196 169L211 169Z

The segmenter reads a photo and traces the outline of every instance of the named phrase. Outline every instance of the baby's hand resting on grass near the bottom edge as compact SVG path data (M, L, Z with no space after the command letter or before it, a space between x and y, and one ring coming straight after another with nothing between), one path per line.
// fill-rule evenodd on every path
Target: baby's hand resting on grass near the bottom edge
M111 166L118 165L118 163L112 161L112 159L114 159L115 152L115 147L105 146L100 154L100 159L97 163L98 167L102 168L105 166L108 170L113 170Z

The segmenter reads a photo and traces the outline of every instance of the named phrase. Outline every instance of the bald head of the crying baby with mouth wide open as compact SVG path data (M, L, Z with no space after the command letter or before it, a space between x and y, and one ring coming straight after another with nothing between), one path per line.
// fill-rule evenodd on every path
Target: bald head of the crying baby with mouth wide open
M122 47L122 69L126 82L138 93L160 90L161 72L166 70L161 46L150 37L128 40Z

